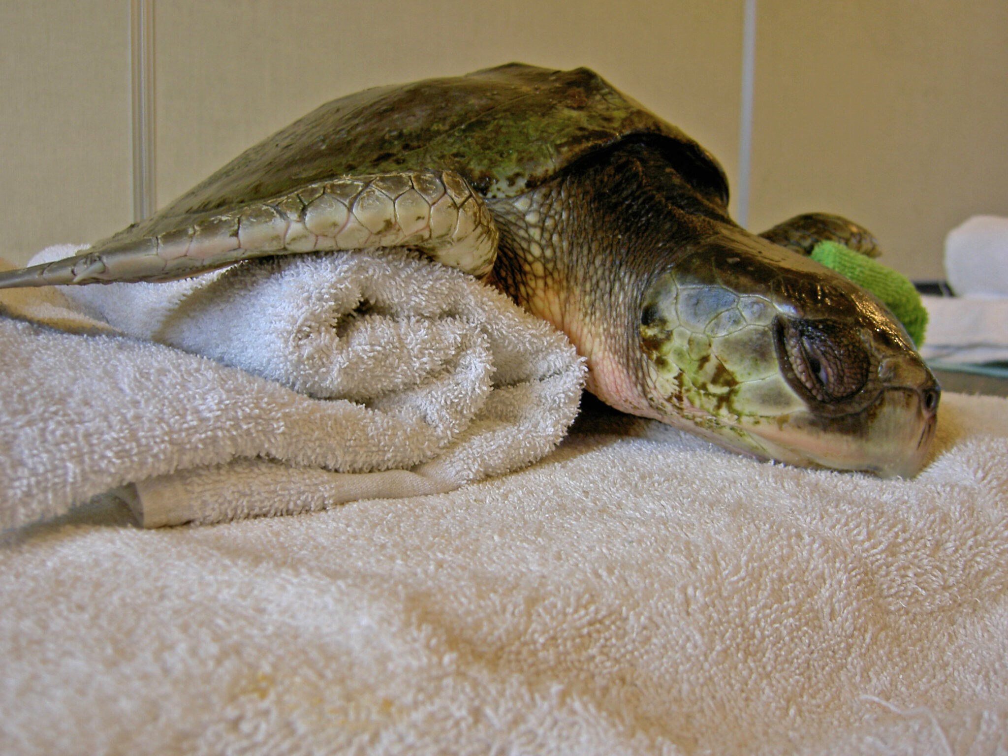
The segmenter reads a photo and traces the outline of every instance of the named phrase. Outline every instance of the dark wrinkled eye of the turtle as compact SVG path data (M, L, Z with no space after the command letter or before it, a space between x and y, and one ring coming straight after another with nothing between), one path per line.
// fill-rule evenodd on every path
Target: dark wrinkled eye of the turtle
M782 336L794 377L820 401L847 399L864 388L870 360L850 329L798 321L787 323Z

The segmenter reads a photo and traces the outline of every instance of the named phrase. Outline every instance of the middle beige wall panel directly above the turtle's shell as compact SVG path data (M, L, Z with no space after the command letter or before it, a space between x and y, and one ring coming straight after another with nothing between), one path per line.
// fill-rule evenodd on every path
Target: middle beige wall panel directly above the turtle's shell
M739 3L289 0L278 7L158 0L159 201L334 97L510 60L594 68L666 118L707 131L711 148L736 163Z

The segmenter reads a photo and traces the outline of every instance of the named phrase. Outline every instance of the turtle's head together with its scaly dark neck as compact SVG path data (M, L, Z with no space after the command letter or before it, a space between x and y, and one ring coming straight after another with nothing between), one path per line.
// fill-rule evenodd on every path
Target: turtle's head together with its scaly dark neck
M797 465L922 465L938 388L888 310L740 229L647 145L490 207L494 281L571 338L608 404Z

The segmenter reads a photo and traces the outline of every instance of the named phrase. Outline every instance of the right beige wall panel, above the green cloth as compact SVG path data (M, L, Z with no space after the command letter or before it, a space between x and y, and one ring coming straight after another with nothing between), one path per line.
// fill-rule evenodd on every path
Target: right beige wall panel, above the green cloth
M1008 216L1008 2L759 0L750 225L830 210L943 277L944 235Z

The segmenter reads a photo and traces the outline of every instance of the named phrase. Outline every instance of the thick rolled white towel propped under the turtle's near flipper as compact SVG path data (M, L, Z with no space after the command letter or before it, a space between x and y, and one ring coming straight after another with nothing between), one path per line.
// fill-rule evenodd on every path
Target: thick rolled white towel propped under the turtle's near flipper
M127 484L146 526L449 491L552 449L584 379L562 335L408 252L0 304L29 319L0 319L3 527Z

